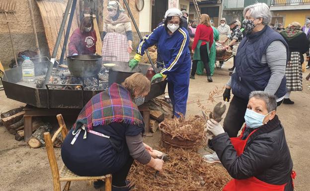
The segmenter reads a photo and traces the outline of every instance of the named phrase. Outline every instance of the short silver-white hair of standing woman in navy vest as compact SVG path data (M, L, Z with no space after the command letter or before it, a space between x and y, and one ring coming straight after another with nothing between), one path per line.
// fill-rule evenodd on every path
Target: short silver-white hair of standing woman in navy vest
M262 23L264 25L268 25L271 21L271 12L269 6L266 3L257 2L255 4L245 7L243 10L244 17L247 11L250 11L250 16L253 18L262 18Z

